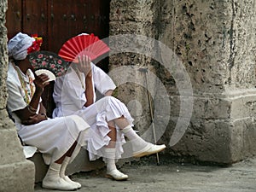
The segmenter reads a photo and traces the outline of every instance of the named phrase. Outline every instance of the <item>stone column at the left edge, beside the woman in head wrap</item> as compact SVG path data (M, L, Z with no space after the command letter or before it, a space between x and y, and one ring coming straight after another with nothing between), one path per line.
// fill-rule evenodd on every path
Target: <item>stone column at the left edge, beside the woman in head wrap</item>
M26 160L14 123L5 109L7 101L6 77L8 70L7 29L5 12L7 1L0 1L0 191L34 191L35 170L31 161Z

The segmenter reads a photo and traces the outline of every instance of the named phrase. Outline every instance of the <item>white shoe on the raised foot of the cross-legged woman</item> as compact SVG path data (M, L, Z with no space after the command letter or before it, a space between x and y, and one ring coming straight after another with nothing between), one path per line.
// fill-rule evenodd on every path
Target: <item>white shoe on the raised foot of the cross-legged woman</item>
M134 157L143 157L145 155L149 155L149 154L156 154L159 153L160 151L164 150L166 148L165 144L162 145L154 145L152 143L148 143L148 145L143 148L140 151L134 152L133 156Z

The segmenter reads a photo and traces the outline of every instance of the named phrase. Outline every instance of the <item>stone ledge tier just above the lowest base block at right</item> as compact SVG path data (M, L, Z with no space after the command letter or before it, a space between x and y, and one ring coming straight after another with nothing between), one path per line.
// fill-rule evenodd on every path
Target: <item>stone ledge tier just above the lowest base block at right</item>
M185 98L183 98L184 102ZM171 116L187 117L186 109L180 114L180 97L170 96ZM190 99L188 102L191 102ZM247 119L256 116L256 90L230 90L224 93L194 95L193 117L196 119Z

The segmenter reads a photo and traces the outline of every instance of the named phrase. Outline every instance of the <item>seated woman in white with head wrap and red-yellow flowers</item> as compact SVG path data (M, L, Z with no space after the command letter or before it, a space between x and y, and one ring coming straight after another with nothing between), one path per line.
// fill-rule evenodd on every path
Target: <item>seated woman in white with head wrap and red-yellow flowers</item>
M7 109L15 121L18 135L26 145L35 146L49 165L42 187L74 190L81 187L65 175L65 170L88 137L89 125L77 115L49 119L41 102L45 74L34 76L27 59L28 50L36 51L42 42L19 32L9 40Z

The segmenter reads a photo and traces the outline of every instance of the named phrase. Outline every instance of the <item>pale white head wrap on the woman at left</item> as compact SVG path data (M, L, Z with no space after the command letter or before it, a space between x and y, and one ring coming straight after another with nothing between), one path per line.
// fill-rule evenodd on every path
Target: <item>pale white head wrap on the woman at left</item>
M9 40L8 55L13 56L15 60L25 60L27 49L32 46L33 41L35 41L34 38L19 32Z

